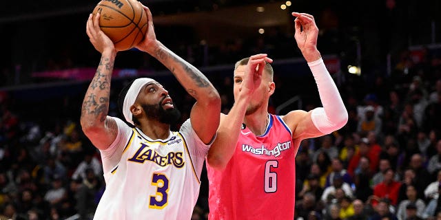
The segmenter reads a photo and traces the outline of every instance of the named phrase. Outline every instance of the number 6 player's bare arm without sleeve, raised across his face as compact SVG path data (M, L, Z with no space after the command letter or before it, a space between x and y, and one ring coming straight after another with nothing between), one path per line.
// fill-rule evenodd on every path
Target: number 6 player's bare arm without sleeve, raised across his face
M238 96L228 115L221 115L216 140L207 155L207 162L212 168L222 170L232 158L247 106L262 81L265 62L272 63L267 54L256 54L249 58L244 69L235 69L234 87L238 87Z

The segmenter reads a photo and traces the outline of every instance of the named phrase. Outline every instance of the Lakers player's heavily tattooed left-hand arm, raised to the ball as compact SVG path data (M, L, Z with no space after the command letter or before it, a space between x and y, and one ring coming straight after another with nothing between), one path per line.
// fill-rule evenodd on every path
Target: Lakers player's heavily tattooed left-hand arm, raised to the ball
M106 149L118 135L114 119L107 117L109 111L110 79L116 56L114 44L99 28L99 14L94 20L89 16L86 32L95 49L101 53L96 69L81 108L81 128L92 144L100 150Z

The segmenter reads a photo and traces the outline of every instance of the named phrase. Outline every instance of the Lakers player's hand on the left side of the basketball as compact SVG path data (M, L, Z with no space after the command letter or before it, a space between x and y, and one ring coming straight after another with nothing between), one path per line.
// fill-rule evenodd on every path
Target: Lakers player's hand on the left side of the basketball
M110 38L101 30L101 28L99 28L99 17L99 13L96 13L95 17L92 17L92 14L89 14L85 32L88 34L92 45L94 45L95 49L101 54L103 54L105 50L116 52L115 45L112 40L110 40Z

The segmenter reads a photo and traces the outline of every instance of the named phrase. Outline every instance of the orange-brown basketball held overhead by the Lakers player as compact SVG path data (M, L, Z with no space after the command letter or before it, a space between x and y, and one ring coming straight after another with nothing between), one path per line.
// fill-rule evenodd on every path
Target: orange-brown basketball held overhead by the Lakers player
M135 0L102 0L92 15L100 13L99 27L109 36L118 51L139 44L147 32L147 14Z

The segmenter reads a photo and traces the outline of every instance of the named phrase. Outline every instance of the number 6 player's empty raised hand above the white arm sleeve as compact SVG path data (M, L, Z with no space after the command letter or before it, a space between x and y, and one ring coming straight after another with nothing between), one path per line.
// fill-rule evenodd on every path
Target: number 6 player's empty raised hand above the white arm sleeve
M320 58L317 50L318 28L314 17L311 14L298 12L292 12L292 16L296 17L294 38L298 48L308 62L318 60Z

